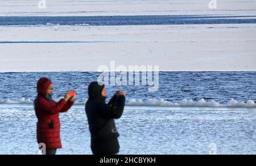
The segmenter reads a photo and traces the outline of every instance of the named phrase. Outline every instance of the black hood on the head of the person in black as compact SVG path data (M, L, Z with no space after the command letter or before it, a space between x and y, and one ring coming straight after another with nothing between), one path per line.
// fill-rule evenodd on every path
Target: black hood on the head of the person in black
M92 82L88 86L88 96L89 99L99 98L105 100L106 97L101 95L102 90L104 89L105 85L99 85L98 82Z

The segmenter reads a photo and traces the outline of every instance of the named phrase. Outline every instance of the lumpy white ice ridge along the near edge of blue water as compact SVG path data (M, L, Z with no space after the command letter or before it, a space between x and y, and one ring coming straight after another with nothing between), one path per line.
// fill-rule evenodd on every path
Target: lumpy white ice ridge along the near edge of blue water
M56 99L59 101L61 98ZM30 98L22 98L19 101L13 101L10 99L1 100L0 104L13 105L13 104L28 104L31 105L34 101ZM85 101L77 101L75 105L85 105ZM256 104L253 100L248 100L247 102L239 102L235 99L231 99L226 104L221 104L216 101L205 101L204 98L199 101L193 101L192 99L183 99L180 102L170 102L164 99L147 99L142 101L142 99L130 99L126 103L126 106L160 106L160 107L246 107L246 108L255 108Z

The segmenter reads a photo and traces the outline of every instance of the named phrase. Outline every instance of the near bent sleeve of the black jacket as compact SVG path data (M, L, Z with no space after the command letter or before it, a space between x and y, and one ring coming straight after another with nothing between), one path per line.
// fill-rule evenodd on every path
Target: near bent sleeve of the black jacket
M98 102L96 110L98 114L105 118L118 119L123 114L125 108L125 96L117 97L116 104L108 105L105 102Z

